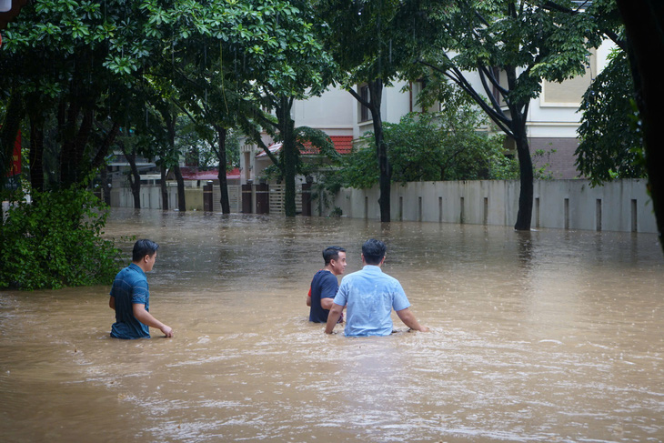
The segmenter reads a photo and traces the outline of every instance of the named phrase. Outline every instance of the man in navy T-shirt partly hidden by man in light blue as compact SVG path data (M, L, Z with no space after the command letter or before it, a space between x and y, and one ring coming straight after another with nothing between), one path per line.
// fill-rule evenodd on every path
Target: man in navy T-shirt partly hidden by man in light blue
M309 321L315 323L327 323L329 308L332 300L337 295L339 284L337 276L344 273L346 269L346 249L343 247L326 247L323 251L325 267L319 270L311 280L307 306L309 309Z

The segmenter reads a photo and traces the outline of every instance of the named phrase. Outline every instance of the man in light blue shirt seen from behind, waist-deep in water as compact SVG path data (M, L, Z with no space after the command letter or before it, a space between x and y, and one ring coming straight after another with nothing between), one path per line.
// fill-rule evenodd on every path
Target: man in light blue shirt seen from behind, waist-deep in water
M344 307L347 307L346 336L388 336L392 333L392 309L407 327L427 332L410 312L403 287L394 277L384 274L385 243L369 239L362 246L364 267L341 280L325 332L331 334Z

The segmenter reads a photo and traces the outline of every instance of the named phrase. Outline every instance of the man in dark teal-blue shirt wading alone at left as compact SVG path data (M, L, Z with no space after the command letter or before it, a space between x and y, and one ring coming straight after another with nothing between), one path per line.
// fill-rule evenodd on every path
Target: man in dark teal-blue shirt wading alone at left
M146 272L155 266L159 246L150 240L138 240L134 244L132 263L117 273L111 287L108 306L116 311L116 323L111 327L111 337L149 338L149 327L156 327L166 337L173 337L173 329L150 314L150 291Z

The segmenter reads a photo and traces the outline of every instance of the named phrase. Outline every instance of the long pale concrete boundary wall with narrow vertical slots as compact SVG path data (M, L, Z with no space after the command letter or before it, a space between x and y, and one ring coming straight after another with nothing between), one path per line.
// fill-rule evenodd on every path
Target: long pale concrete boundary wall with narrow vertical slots
M392 186L392 219L513 226L517 180L416 182ZM379 219L379 191L343 188L332 207L344 216ZM592 188L585 180L536 181L532 227L656 233L646 181L618 180Z

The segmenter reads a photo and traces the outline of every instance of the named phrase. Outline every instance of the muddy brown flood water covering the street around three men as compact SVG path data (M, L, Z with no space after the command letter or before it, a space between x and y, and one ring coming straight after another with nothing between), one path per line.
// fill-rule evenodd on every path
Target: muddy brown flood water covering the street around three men
M110 338L109 287L0 292L0 441L664 439L655 236L115 209L127 235L175 337ZM368 237L431 332L307 321L322 249L353 272Z

